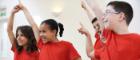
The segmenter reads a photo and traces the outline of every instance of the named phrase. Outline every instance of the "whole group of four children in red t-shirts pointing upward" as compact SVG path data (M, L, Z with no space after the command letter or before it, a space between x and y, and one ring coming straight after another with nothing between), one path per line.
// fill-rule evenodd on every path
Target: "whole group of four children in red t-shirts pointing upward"
M78 30L87 37L88 57L92 60L140 59L140 35L128 31L133 17L133 9L129 3L112 1L107 5L104 14L100 9L90 9L95 7L89 6L86 1L82 1L82 7L96 30L95 44L84 26ZM23 11L31 26L19 26L14 36L13 21L19 11ZM95 12L97 17L93 17L91 11ZM38 27L28 9L20 2L13 8L7 26L14 60L82 60L70 42L57 38L58 33L60 37L63 36L63 31L63 24L54 19L44 20Z

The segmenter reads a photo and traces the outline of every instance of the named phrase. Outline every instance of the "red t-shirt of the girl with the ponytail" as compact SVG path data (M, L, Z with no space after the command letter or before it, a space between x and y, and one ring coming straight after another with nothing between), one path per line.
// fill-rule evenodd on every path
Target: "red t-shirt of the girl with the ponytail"
M73 45L66 41L44 44L40 39L38 47L40 49L39 60L74 60L80 57Z

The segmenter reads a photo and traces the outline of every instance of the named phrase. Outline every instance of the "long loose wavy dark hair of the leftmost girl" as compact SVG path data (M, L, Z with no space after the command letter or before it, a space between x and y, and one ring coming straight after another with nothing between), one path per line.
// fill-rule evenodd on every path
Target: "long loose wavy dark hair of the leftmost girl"
M27 25L19 26L16 30L16 38L18 37L19 30L28 39L26 51L28 53L37 51L38 50L38 48L36 46L37 42L36 42L36 39L35 39L31 26L27 26ZM19 46L17 43L17 40L16 40L16 49L17 49L18 53L20 53L23 50L23 46Z

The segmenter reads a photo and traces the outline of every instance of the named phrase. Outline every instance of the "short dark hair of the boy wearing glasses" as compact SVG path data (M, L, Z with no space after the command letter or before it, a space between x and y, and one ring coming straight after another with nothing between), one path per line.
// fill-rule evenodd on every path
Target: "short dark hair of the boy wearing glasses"
M126 23L127 25L130 24L132 18L133 18L133 8L132 6L124 1L112 1L110 3L108 3L107 6L113 6L113 8L115 9L116 12L123 12L125 14L126 17Z

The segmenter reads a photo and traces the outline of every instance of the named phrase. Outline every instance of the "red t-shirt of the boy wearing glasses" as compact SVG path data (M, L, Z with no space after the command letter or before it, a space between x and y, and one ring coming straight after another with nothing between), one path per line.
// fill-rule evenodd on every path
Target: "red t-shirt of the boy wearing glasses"
M96 34L95 58L97 60L140 60L140 35L116 34L104 30L106 43L102 43Z

